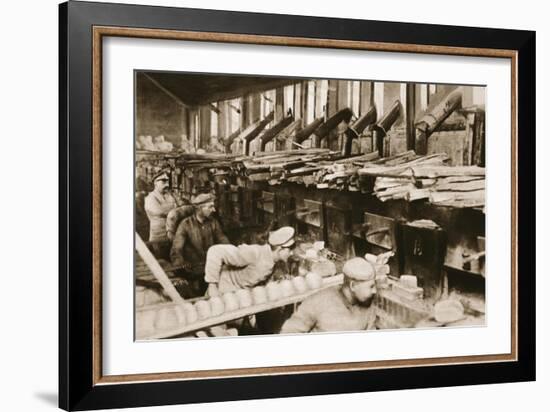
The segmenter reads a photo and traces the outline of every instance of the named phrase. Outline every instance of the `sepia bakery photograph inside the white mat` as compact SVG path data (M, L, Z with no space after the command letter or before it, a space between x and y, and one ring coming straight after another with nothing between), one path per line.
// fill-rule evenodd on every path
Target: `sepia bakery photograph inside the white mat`
M135 339L485 326L485 99L135 70Z

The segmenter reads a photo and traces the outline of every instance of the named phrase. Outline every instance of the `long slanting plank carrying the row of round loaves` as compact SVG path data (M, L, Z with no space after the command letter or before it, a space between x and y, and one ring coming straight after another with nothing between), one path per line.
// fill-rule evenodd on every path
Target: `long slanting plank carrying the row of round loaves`
M308 290L307 292L278 299L273 302L266 302L260 305L252 305L247 308L237 309L231 312L223 313L219 316L212 316L210 318L203 319L198 322L194 322L190 325L179 326L177 328L167 330L167 331L157 332L153 335L149 335L146 337L138 337L138 339L140 340L165 339L165 338L170 338L174 336L184 335L184 334L201 330L201 329L207 329L212 326L220 325L235 319L243 318L245 316L250 316L256 313L265 312L267 310L275 309L281 306L286 306L293 303L301 302L308 296L311 296L323 289L341 285L343 281L344 281L344 276L341 274L331 276L329 278L324 278L323 285L318 289ZM163 305L163 307L166 307L166 305Z

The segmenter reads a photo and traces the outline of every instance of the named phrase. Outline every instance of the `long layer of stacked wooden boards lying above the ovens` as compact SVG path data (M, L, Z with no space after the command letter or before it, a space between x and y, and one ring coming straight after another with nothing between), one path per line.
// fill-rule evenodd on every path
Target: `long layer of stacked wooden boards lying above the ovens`
M485 205L485 168L448 166L449 157L444 153L420 156L411 150L385 158L377 152L343 157L340 152L314 148L254 156L180 154L173 159L185 174L203 170L213 181L221 176L224 181L289 182L374 193L382 201L423 200L460 208Z

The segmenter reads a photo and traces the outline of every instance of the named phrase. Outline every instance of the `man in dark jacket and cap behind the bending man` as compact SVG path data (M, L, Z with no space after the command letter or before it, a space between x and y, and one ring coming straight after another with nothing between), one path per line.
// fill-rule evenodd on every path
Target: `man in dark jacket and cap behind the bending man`
M193 214L177 226L173 236L170 259L176 268L181 268L188 281L195 283L195 294L206 291L204 266L206 252L215 244L229 243L220 222L214 216L215 197L211 193L201 193L191 199Z

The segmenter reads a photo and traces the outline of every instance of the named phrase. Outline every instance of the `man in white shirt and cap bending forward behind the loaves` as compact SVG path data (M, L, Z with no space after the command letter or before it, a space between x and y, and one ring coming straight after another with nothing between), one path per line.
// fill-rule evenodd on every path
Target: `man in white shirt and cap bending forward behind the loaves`
M294 247L294 228L282 227L269 234L266 245L214 245L208 249L204 280L208 294L217 296L266 281L277 261L286 262Z

